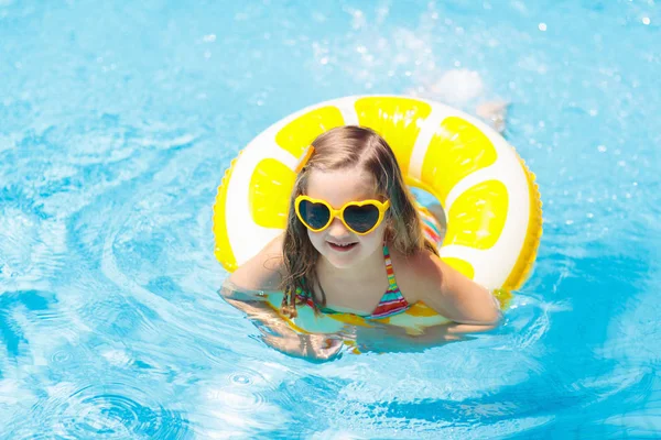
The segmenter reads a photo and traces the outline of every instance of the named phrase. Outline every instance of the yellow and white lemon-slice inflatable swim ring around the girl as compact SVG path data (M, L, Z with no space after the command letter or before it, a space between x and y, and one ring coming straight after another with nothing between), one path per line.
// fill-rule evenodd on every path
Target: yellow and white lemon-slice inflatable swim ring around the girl
M437 102L395 96L347 97L308 107L277 122L239 153L214 205L215 254L227 271L284 229L295 169L307 145L323 132L348 124L383 136L408 185L438 199L447 217L440 249L444 262L496 293L521 287L542 234L534 175L500 134L476 118ZM281 298L270 299L277 310ZM303 331L369 324L356 316L314 317L302 309L290 323ZM423 304L386 320L408 329L447 322Z

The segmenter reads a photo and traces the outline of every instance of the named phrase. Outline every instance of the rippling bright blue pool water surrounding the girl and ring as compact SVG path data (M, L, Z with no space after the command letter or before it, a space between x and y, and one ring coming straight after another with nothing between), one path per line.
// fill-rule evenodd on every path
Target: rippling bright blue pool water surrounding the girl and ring
M654 1L0 0L0 438L661 432ZM217 295L212 205L302 107L511 102L544 237L503 326L284 356Z

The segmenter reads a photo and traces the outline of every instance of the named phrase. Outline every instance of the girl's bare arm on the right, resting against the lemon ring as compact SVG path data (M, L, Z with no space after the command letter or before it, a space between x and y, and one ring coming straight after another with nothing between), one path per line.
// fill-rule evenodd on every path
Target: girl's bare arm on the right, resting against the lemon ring
M458 323L494 326L502 314L491 293L467 278L433 253L413 257L419 298L440 315Z

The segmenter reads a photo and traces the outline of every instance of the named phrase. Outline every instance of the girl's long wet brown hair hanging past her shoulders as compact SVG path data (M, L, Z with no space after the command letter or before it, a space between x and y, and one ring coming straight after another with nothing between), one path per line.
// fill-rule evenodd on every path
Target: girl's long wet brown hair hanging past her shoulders
M296 289L313 295L314 286L318 284L315 266L319 253L310 241L307 229L294 210L296 197L305 194L310 174L315 169L329 172L357 167L373 176L378 197L390 200L390 209L384 218L386 242L404 255L411 255L425 248L436 253L436 248L423 235L413 197L404 185L394 153L383 138L367 128L345 125L321 134L312 145L314 153L294 183L284 233L283 257L286 275L281 285L284 292L281 311L290 318L297 315ZM325 306L326 298L323 289L319 290L321 304Z

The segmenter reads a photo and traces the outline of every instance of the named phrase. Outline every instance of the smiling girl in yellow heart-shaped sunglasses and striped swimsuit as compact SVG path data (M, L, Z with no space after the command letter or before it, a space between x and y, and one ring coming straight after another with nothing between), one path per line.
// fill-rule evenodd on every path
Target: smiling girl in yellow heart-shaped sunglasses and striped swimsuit
M340 127L312 146L284 233L230 275L234 289L282 290L281 312L289 317L313 307L378 321L424 301L456 323L498 322L492 295L441 261L425 239L395 156L379 134ZM280 334L267 332L266 340L281 351L322 360L337 352L334 339L297 334L259 301L224 292Z

